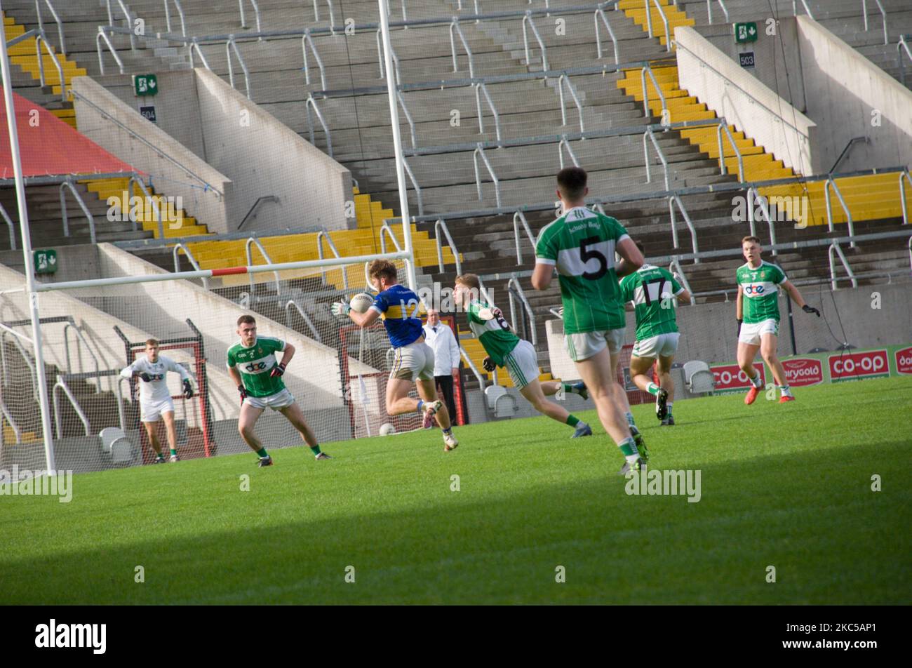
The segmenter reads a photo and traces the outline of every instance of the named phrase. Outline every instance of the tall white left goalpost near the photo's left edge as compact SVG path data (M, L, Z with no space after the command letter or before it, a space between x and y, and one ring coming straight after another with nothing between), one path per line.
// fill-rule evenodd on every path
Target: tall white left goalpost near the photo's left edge
M0 16L3 6L0 3ZM35 371L38 383L38 401L41 404L41 432L45 440L45 463L47 471L55 471L54 441L51 434L51 412L47 401L47 379L45 358L41 347L41 324L38 321L38 293L35 291L35 258L32 256L32 237L28 231L28 210L26 208L26 185L22 176L22 160L19 156L19 135L16 130L16 100L13 99L13 82L9 74L9 53L6 51L6 26L0 21L0 68L3 72L4 105L9 128L9 149L13 158L13 175L16 177L16 202L19 205L19 229L22 234L22 255L25 260L26 291L28 310L32 318L32 341L35 347ZM65 85L61 81L60 85Z

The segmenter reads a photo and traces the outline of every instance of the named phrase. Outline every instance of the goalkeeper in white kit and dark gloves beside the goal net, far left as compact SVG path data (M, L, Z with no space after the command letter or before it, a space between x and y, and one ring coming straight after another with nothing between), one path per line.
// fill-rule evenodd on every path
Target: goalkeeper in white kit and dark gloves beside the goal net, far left
M168 371L181 374L183 395L190 399L193 396L190 374L171 358L159 354L159 342L156 339L146 341L145 357L137 358L129 367L120 371L124 378L140 379L140 421L145 425L152 450L155 451L155 464L164 464L165 461L157 431L159 420L164 421L165 431L168 433L170 461L179 461L177 431L174 428L174 402L171 401L171 392L168 391L168 382L165 380Z

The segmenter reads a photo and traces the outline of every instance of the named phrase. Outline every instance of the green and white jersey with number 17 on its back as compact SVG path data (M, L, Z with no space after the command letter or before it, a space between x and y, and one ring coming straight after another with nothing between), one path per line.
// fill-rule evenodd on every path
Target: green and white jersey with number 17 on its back
M637 314L637 341L678 331L674 296L683 290L660 266L643 265L621 279L621 298L632 301Z

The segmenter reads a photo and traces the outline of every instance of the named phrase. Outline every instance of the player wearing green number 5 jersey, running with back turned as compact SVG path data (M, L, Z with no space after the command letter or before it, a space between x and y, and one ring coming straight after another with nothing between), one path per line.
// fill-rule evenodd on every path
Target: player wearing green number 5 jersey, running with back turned
M627 324L617 280L642 266L643 255L622 224L586 208L587 193L585 170L567 167L558 172L563 214L538 235L532 287L547 289L557 269L567 352L596 402L605 431L624 455L620 473L627 475L645 469L648 451L633 425L627 393L617 383ZM617 264L616 252L622 258Z

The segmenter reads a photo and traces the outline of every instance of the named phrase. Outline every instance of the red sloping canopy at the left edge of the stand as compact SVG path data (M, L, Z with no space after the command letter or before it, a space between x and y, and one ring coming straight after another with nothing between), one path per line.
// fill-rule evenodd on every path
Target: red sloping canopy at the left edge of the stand
M13 178L4 91L0 88L0 179ZM25 176L140 172L121 162L39 104L13 93ZM140 172L141 173L141 172Z

